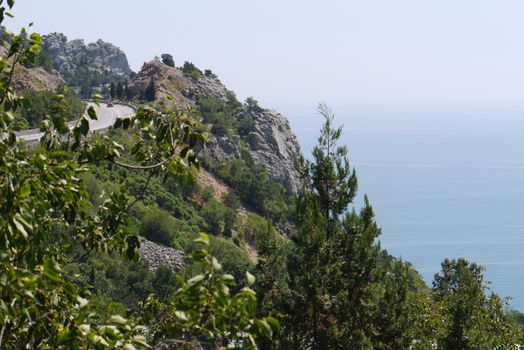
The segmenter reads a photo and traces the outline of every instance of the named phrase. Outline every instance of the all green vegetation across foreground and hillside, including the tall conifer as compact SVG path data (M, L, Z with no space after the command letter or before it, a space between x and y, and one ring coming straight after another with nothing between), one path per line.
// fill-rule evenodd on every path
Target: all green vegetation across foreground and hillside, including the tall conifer
M8 58L35 64L37 34L23 30L10 40ZM93 108L75 116L78 100L66 90L17 96L11 74L0 64L0 348L522 344L522 315L505 311L481 266L445 260L430 289L410 264L381 249L369 200L353 205L357 177L326 106L312 159L298 165L297 194L241 149L241 159L206 162L230 187L220 198L195 182L205 136L189 111L141 107L88 137ZM126 90L114 82L109 93ZM252 98L246 105L260 109ZM249 128L236 120L234 96L200 97L198 107L217 135ZM73 118L79 122L70 130ZM23 123L41 126L35 148L17 140L14 128ZM274 222L294 227L291 236ZM138 236L183 250L192 263L180 273L150 271L138 260Z

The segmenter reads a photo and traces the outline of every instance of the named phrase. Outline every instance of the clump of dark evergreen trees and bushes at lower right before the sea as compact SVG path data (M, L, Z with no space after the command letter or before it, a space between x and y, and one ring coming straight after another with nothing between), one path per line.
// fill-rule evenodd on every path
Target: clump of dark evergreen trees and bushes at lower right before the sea
M482 269L444 261L428 290L409 264L382 252L381 231L365 198L349 207L356 175L342 130L326 121L312 161L302 161L291 242L268 230L258 245L261 312L280 315L279 349L509 349L522 329L487 295ZM300 312L297 312L300 310Z

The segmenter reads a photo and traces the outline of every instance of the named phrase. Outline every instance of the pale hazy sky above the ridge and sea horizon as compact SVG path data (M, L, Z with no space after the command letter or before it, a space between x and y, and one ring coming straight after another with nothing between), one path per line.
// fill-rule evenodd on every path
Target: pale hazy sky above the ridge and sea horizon
M263 105L524 107L522 0L17 0L10 29L163 52Z

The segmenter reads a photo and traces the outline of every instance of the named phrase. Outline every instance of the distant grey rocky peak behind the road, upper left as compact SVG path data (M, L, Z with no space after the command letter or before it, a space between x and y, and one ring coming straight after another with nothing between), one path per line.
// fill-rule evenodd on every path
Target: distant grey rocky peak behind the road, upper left
M42 39L43 49L60 74L81 68L110 76L129 76L131 73L125 53L113 44L98 40L86 45L82 39L68 41L61 33L44 35Z

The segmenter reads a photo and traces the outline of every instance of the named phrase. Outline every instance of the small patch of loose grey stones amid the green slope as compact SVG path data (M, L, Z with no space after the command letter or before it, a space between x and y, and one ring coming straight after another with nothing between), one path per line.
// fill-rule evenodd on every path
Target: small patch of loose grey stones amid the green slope
M140 258L149 262L149 269L152 271L165 265L175 272L180 271L187 260L181 251L145 239L140 241Z

